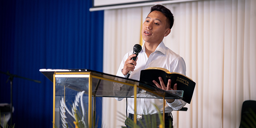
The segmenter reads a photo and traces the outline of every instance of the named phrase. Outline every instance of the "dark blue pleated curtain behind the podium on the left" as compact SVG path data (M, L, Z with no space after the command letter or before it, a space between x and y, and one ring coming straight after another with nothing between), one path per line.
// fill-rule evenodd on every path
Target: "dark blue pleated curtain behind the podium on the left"
M39 69L102 72L103 11L89 12L90 7L91 0L0 1L0 71L42 82L13 79L15 127L52 127L52 82ZM10 103L7 79L0 74L0 103Z

